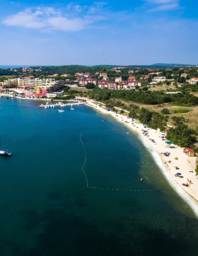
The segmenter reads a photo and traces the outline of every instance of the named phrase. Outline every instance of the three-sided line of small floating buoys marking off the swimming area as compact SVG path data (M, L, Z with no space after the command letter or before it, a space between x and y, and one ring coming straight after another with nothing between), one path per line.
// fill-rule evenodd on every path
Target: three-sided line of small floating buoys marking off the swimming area
M122 129L113 129L113 130L122 130ZM102 131L90 131L90 132L82 132L82 133L96 133L96 132L106 132L106 131L113 131L113 130L102 130ZM154 190L131 190L131 189L113 189L113 188L103 188L103 187L89 187L88 185L88 179L87 179L87 175L85 173L85 170L84 170L84 166L86 164L86 161L87 161L87 152L86 152L86 149L85 149L85 145L84 143L82 142L81 140L81 137L82 137L82 133L80 134L80 142L82 143L82 146L84 148L84 151L85 151L85 161L84 161L84 164L82 165L82 171L83 173L85 174L85 178L86 178L86 183L87 183L87 188L91 188L91 189L99 189L99 190L114 190L114 191L135 191L135 192L144 192L144 191L148 191L148 192L151 192L151 191L160 191L160 190L167 190L167 188L157 188L157 189L154 189Z

